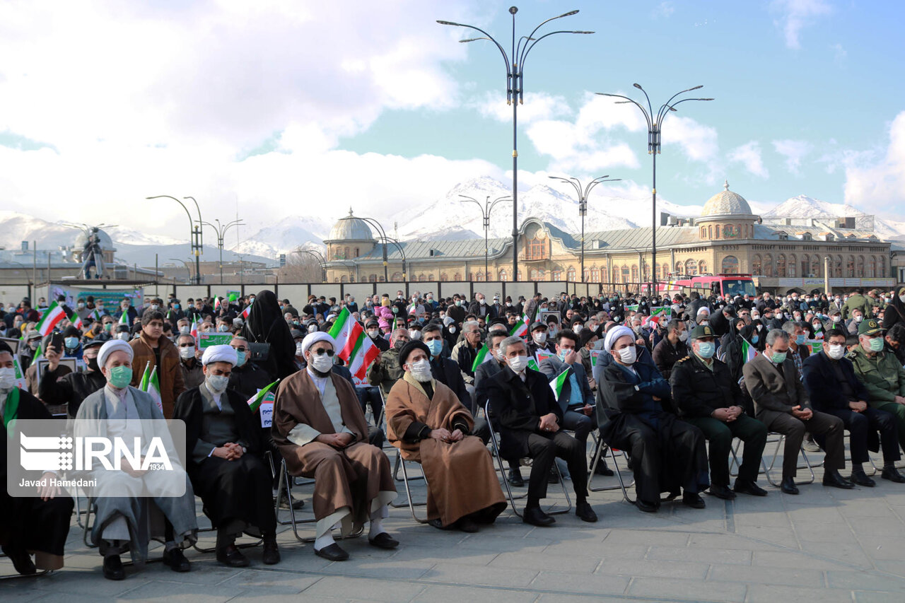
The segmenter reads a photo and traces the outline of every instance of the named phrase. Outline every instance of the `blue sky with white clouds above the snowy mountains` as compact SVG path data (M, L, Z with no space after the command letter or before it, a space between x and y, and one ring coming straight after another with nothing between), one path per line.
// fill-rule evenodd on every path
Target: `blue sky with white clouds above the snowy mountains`
M195 196L205 220L386 216L471 177L511 178L491 0L6 0L0 4L0 209L184 238L152 195ZM519 3L538 43L519 109L519 183L623 178L646 196L643 118L664 122L658 193L700 205L724 178L759 205L806 194L905 218L905 5L892 0ZM561 26L561 27L560 27ZM553 29L542 30L553 31ZM522 172L524 170L524 172ZM567 189L563 189L564 191ZM647 192L645 192L645 190Z

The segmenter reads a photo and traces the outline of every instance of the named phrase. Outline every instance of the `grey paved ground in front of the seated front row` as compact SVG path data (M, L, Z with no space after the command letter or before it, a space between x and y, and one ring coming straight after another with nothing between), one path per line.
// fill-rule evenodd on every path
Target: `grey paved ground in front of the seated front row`
M818 471L799 496L769 488L765 499L708 498L703 511L664 503L657 514L638 512L618 491L595 493L598 523L570 513L533 528L507 511L477 534L438 531L394 509L387 526L402 541L395 551L359 538L342 543L351 560L329 563L288 530L277 566L263 566L258 549L247 551L245 570L192 550L189 573L151 563L127 568L121 582L101 577L100 556L81 545L73 523L66 568L0 582L0 600L905 601L905 485L878 476L876 488L842 491L819 482ZM310 486L296 492L310 508ZM423 485L414 492L423 496ZM0 573L10 571L0 559Z

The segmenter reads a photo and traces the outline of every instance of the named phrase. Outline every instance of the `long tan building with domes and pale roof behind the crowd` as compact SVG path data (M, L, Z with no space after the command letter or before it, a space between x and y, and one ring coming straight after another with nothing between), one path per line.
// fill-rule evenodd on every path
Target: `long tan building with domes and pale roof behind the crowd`
M661 215L653 264L651 228L588 232L581 273L581 237L527 217L519 228L519 281L600 283L603 291L637 292L641 283L700 274L751 274L759 289L810 292L830 285L851 289L895 286L890 243L872 220L769 218L751 212L729 189L711 196L699 217ZM349 215L330 231L328 282L512 281L511 238L384 242L364 220Z

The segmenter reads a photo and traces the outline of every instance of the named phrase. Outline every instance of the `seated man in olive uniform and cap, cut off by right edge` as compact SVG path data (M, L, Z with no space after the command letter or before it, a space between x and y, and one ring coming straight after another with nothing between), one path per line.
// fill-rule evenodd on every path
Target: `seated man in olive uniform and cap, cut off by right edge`
M905 450L905 369L895 354L884 348L880 322L869 319L861 324L858 344L851 347L847 358L867 389L867 403L895 416L899 445Z

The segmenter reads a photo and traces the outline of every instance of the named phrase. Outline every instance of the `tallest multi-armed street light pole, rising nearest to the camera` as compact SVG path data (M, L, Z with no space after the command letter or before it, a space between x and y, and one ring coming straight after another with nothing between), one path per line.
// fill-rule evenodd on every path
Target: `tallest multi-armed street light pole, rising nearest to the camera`
M531 52L531 49L534 46L543 40L544 38L554 35L554 34L594 34L594 32L580 32L580 31L557 31L557 32L548 32L547 34L543 34L537 38L534 37L534 34L538 32L538 29L543 27L545 24L548 24L550 21L554 21L556 19L561 19L566 16L571 16L573 14L577 14L578 11L569 11L568 13L563 13L555 17L549 18L547 21L542 22L533 30L529 35L523 35L520 38L516 38L515 36L515 14L519 12L519 8L516 6L510 6L510 14L512 15L512 45L511 45L511 53L507 54L503 47L499 42L494 39L491 34L488 34L480 27L476 27L474 25L467 25L461 23L454 23L452 21L437 21L437 23L441 25L452 25L453 27L466 27L468 29L473 29L476 32L481 32L483 34L478 38L469 38L467 40L460 40L461 43L469 43L475 42L477 40L489 40L490 42L496 45L497 50L502 54L503 62L506 63L506 104L512 105L512 281L519 280L519 139L518 139L518 108L519 104L522 104L525 101L525 89L524 89L524 80L523 74L525 72L525 59L528 58L528 53Z

